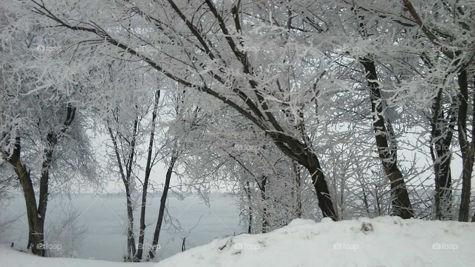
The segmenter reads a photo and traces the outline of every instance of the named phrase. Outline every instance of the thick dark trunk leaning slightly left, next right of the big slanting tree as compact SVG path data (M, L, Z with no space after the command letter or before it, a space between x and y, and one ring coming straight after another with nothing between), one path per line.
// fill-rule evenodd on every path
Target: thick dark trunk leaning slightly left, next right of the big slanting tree
M375 132L378 155L387 178L391 183L393 195L393 211L403 219L414 217L414 212L409 200L404 177L397 166L397 148L389 147L388 132L383 117L382 97L378 84L378 75L375 63L369 58L362 58L361 63L365 67L368 86L371 90L371 113L373 114L373 130Z

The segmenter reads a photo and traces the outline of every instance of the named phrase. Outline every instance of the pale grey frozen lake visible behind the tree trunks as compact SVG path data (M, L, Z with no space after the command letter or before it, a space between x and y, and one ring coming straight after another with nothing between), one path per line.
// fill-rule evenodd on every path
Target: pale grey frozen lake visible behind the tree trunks
M155 196L147 206L145 239L151 240L158 216L160 195ZM75 224L87 225L87 232L82 246L77 247L79 258L123 261L126 254L126 205L125 196L90 196L63 199L53 198L48 203L47 225L45 229L58 222L59 218L71 210L77 209L80 215ZM184 200L170 196L168 211L171 217L178 219L181 231L169 227L167 219L165 229L160 233L157 251L159 259L170 257L181 251L182 237L186 238L187 249L202 245L226 235L238 234L243 231L239 226L239 211L232 197L211 197L208 208L197 196L189 196ZM136 209L134 227L138 239L140 209ZM0 206L0 222L20 216L0 236L0 242L8 246L14 242L16 249L25 249L28 241L28 225L25 214L25 203L22 198L3 202ZM194 227L194 228L193 228ZM167 230L168 229L168 230ZM190 233L189 233L190 231ZM188 234L189 233L189 234ZM137 241L136 241L137 242ZM146 251L145 251L146 253Z

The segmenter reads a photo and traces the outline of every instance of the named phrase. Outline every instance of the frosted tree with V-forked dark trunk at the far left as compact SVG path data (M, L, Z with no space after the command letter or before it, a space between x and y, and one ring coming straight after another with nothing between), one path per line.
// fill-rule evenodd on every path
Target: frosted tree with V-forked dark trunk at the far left
M28 248L44 256L50 188L68 189L82 178L97 178L84 116L92 95L89 76L94 64L85 64L87 57L76 60L85 49L63 52L70 39L52 40L35 19L3 11L7 19L0 27L1 158L21 184Z

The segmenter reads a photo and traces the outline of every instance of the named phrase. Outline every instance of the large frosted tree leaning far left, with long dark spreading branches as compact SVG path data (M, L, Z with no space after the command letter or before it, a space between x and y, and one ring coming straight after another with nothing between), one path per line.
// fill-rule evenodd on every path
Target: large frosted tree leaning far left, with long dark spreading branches
M156 36L157 41L151 41L147 37L148 33L143 36L140 33L134 33L134 39L131 40L129 38L131 34L127 32L127 29L107 32L100 26L83 27L77 25L77 23L71 24L66 18L60 18L53 14L47 3L32 2L31 8L35 12L44 14L55 23L73 31L82 31L91 37L95 36L97 38L98 36L110 45L138 56L168 78L190 89L201 91L207 94L208 97L213 97L213 101L219 101L217 104L229 105L236 109L241 116L254 123L259 131L271 136L274 144L285 155L307 169L311 174L312 183L319 199L319 206L324 216L336 220L325 174L320 166L319 156L314 150L312 138L316 138L317 134L309 135L310 133L319 133L318 128L321 128L322 125L315 125L313 123L315 122L314 119L306 120L305 122L308 121L309 125L305 125L305 122L299 119L300 116L302 118L306 115L315 116L313 107L307 105L306 102L310 101L313 105L316 96L315 88L324 88L323 83L330 85L332 80L318 79L315 73L306 73L312 71L313 67L310 66L299 66L302 68L301 70L290 67L292 65L298 66L295 63L302 60L302 56L294 57L295 48L299 48L301 44L290 43L286 40L290 40L292 35L294 35L292 38L295 39L305 37L299 36L302 35L300 31L294 32L291 25L290 27L279 26L281 24L286 25L289 16L291 16L287 7L272 6L271 10L262 10L259 6L251 6L249 11L252 8L257 8L256 12L265 12L266 15L276 14L274 19L277 22L275 25L272 25L273 23L268 25L259 18L240 18L239 16L245 15L247 11L240 9L240 5L221 6L220 3L220 6L217 6L212 1L205 1L204 5L193 3L186 7L180 7L182 3L168 1L167 3L154 3L154 6L150 8L140 4L130 6L127 2L124 2L123 5L118 3L113 8L114 11L122 9L137 14L131 23L134 27L145 29L151 26L160 30L160 36ZM149 13L152 9L156 11L153 16ZM218 10L226 10L224 11L226 14ZM170 16L170 14L173 14L173 16ZM191 22L191 18L197 14L202 14L200 20ZM225 15L234 16L235 19L224 19ZM159 18L164 18L165 21L161 21ZM172 21L168 21L172 18ZM107 20L104 16L99 19ZM252 52L246 51L245 42L257 38L257 33L247 28L254 22L262 24L263 28L261 29L263 29L265 36L260 38L264 38L263 42L268 42L265 46L271 48L268 52L263 51L269 57L261 62L259 60L255 61L257 58L254 57ZM95 23L98 25L97 23L100 24L101 22ZM144 25L147 25L147 27L144 27ZM208 25L207 27L212 27L212 29L202 29L201 25ZM274 27L281 28L282 31L287 33L282 36L273 30ZM221 34L216 35L214 31ZM188 35L188 33L192 34L191 39L189 37L183 38L183 35ZM245 36L243 33L246 33ZM286 45L280 46L285 42L287 42ZM141 44L148 44L161 49L158 49L159 53L142 53L136 48L137 45ZM306 49L306 46L303 46L302 49ZM176 49L185 49L186 52L179 54L179 58L169 57L168 54ZM206 57L194 56L195 54L201 55L203 52ZM309 53L318 54L318 51L310 51ZM219 55L220 60L215 60L218 58L217 55ZM170 62L167 64L173 64L174 67L167 67L164 62ZM176 64L184 64L183 66L186 67L177 67ZM274 68L276 64L286 67ZM180 71L173 73L173 70ZM315 69L313 69L313 72L315 72ZM291 83L286 82L289 73L295 76ZM317 76L321 75L317 73ZM210 78L212 80L209 80ZM302 87L301 85L305 86ZM293 95L295 97L292 97ZM283 115L282 111L285 111L285 109L287 110L285 113L289 113L291 116ZM295 127L295 125L299 125L299 127Z

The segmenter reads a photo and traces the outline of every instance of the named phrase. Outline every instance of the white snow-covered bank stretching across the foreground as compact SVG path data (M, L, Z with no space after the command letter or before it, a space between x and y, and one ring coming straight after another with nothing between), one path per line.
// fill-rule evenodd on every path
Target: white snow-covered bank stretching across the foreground
M2 247L0 266L470 267L474 249L475 223L395 217L337 223L294 220L266 234L216 239L156 264L42 259Z

